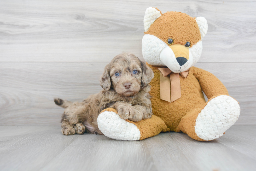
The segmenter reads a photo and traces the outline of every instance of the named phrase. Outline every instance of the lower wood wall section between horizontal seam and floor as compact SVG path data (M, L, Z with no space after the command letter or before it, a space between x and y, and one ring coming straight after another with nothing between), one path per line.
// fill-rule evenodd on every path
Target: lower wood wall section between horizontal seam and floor
M1 62L0 125L59 125L54 97L82 101L102 88L107 62ZM216 75L241 106L237 125L256 124L254 63L197 63ZM246 69L245 69L246 68Z

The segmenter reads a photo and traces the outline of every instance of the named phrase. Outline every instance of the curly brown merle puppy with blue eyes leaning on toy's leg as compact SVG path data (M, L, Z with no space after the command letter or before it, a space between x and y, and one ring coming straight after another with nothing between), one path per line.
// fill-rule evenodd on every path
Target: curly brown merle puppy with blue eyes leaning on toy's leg
M61 119L63 135L102 134L97 117L103 109L114 108L122 119L140 121L152 116L149 82L154 77L152 69L131 53L117 55L104 68L99 93L83 102L54 99L65 108Z

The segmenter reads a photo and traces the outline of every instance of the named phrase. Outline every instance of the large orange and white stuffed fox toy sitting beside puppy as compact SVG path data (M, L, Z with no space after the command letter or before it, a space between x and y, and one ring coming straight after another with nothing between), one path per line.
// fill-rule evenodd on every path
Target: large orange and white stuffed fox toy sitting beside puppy
M105 109L97 120L102 133L118 140L142 140L167 131L182 131L198 141L222 136L238 119L240 107L218 78L194 67L208 29L206 19L149 7L144 29L142 54L155 74L150 82L154 115L132 122L115 109Z

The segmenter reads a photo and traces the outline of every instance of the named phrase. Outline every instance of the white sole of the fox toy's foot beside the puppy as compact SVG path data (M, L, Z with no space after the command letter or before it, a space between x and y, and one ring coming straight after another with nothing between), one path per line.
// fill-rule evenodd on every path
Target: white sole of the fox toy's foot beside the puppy
M115 112L104 111L97 119L101 132L109 138L136 141L141 137L137 126L120 118Z

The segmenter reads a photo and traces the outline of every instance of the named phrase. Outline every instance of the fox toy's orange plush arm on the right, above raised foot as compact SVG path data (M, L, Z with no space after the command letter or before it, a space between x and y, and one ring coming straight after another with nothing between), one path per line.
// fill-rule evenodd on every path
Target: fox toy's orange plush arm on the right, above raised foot
M208 99L218 95L229 95L226 87L212 73L196 67L191 69Z

